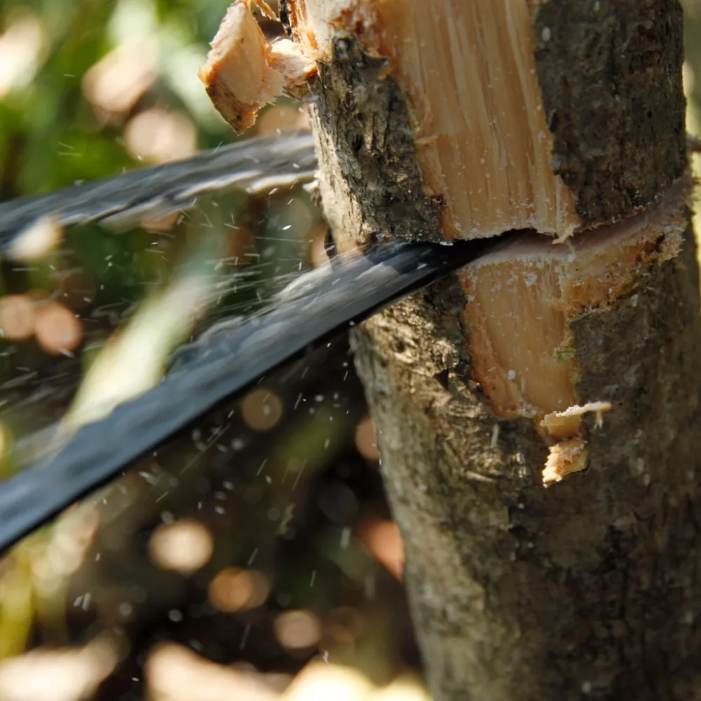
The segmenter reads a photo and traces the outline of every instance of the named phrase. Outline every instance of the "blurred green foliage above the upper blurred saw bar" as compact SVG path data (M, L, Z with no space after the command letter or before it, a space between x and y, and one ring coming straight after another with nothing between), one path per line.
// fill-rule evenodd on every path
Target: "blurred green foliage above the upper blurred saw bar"
M225 1L204 0L4 2L0 62L13 77L0 76L0 197L135 167L123 130L153 105L183 111L200 147L229 138L196 77L225 10ZM83 76L115 48L144 40L157 46L158 75L131 109L105 123L86 98Z

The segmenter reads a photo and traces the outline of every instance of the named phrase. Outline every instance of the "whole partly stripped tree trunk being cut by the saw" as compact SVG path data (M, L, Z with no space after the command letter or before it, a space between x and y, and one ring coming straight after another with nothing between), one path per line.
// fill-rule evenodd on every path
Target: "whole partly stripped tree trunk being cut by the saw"
M701 698L679 2L282 10L341 247L529 230L354 334L435 697Z

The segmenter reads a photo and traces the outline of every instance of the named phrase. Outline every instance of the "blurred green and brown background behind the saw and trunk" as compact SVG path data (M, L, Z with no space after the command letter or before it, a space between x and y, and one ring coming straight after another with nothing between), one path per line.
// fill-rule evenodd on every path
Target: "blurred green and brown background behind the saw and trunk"
M197 77L226 6L3 0L0 199L233 142ZM246 136L305 128L280 100ZM54 233L0 264L2 477L326 257L301 186ZM374 441L342 338L137 461L0 561L0 701L428 698Z

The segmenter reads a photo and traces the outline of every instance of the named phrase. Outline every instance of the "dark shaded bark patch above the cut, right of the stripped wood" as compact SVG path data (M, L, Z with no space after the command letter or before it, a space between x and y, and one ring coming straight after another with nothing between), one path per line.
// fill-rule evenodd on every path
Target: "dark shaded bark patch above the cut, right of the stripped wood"
M650 204L686 168L678 0L550 0L535 18L552 168L585 224Z

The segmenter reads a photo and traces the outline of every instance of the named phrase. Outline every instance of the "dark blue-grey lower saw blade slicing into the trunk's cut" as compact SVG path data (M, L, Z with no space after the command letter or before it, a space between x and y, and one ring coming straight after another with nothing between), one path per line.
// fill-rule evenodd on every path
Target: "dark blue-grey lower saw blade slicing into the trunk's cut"
M0 550L219 402L492 245L494 240L381 243L366 254L336 256L282 290L269 313L224 322L183 346L161 384L79 429L56 454L0 485Z

